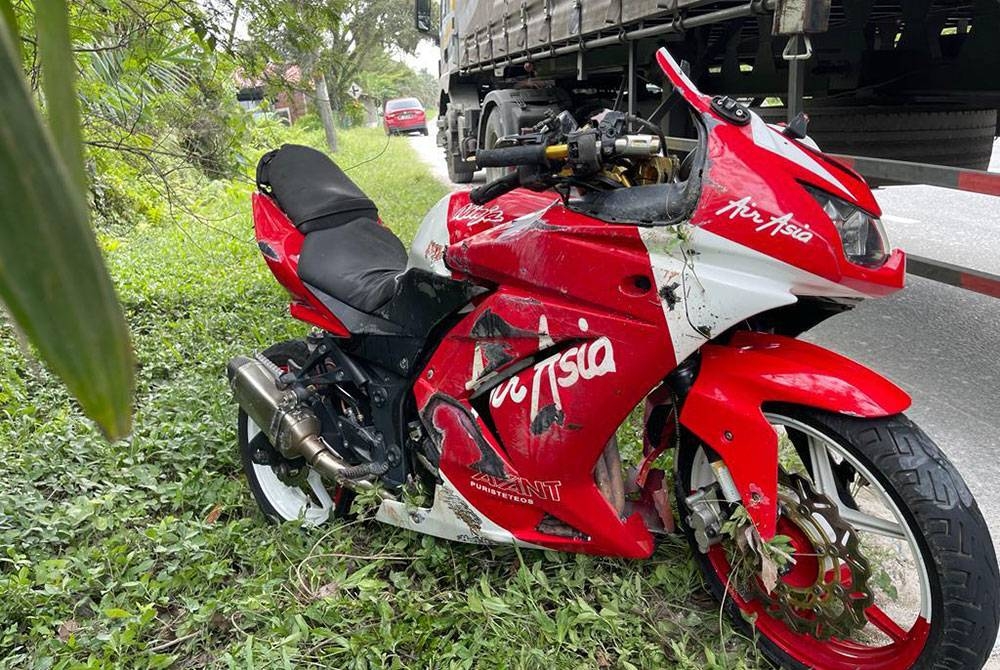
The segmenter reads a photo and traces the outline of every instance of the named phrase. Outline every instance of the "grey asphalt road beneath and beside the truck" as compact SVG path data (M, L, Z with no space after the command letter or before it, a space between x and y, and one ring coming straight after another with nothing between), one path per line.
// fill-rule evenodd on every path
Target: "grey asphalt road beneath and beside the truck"
M410 141L450 183L433 138ZM1000 172L1000 141L990 169ZM930 186L875 195L894 245L1000 274L1000 198ZM910 418L962 473L1000 553L1000 299L911 277L903 291L836 316L806 339L879 370L913 396ZM1000 670L1000 644L987 668Z

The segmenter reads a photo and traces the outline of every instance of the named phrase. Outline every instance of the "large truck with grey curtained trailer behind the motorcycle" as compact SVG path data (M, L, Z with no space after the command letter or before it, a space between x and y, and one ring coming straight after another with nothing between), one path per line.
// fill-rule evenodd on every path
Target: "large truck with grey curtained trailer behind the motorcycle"
M438 145L453 181L477 148L552 111L686 115L654 54L769 121L809 118L832 153L985 169L1000 132L1000 0L442 0L418 29L441 47ZM579 114L578 114L579 117Z

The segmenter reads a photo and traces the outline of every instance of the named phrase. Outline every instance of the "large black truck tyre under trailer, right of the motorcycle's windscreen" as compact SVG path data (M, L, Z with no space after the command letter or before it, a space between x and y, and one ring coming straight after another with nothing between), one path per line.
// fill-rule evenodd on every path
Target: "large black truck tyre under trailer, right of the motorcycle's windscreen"
M757 112L770 123L785 120L784 108ZM809 136L823 151L985 170L993 153L997 110L813 107Z

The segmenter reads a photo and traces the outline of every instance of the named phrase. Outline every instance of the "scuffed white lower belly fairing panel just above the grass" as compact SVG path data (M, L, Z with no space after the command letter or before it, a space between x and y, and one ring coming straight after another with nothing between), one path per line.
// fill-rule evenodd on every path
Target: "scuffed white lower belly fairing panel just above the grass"
M429 508L414 507L398 500L383 500L375 518L391 526L445 540L470 544L517 544L541 549L518 541L510 532L484 517L443 473L440 476L442 481L434 489L434 504Z

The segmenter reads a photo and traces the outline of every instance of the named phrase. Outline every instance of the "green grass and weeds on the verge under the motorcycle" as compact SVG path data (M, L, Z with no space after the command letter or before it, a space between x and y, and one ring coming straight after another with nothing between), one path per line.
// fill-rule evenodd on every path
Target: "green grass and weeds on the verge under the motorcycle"
M341 142L349 166L385 138ZM401 138L350 174L407 240L445 192ZM253 244L250 183L178 188L201 220L101 235L139 360L129 439L103 442L0 322L0 667L759 667L680 539L627 562L437 541L371 507L328 532L267 524L224 366L305 327Z

